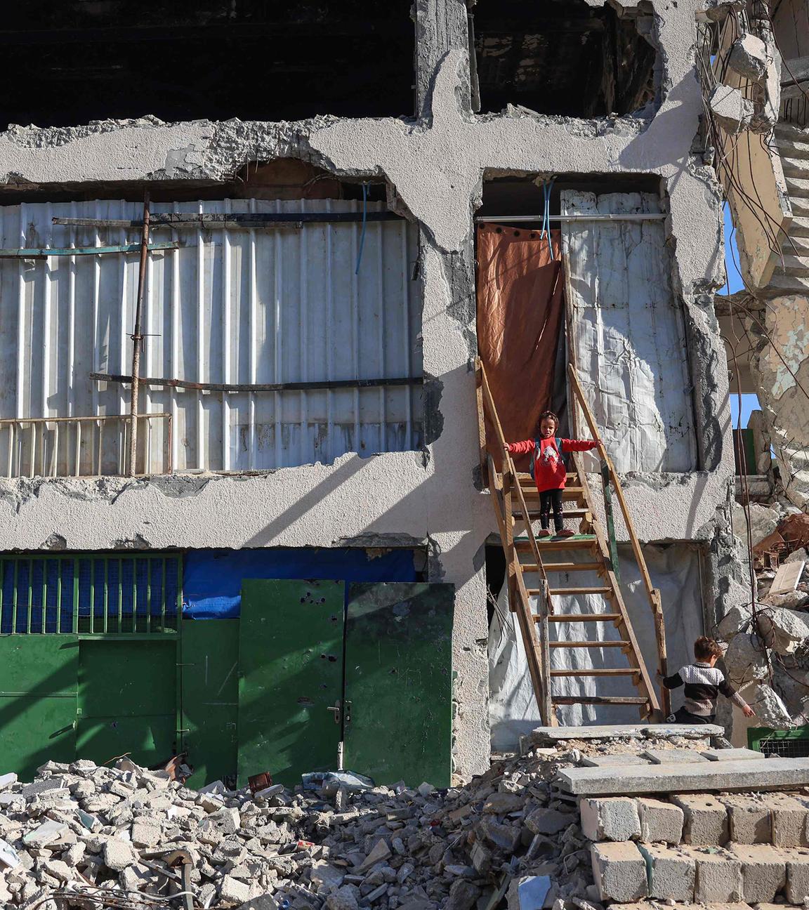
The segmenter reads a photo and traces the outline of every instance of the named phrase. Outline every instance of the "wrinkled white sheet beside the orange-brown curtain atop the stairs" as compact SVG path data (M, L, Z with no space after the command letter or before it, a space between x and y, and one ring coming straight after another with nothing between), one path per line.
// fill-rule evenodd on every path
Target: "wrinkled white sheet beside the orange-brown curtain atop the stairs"
M561 210L651 213L660 205L648 193L568 190ZM662 222L565 222L562 238L576 367L616 470L694 470L683 307Z

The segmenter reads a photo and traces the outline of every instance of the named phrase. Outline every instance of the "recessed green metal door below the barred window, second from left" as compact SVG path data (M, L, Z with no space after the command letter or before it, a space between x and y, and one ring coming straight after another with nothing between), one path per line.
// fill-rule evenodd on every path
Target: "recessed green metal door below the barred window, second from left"
M83 639L76 755L128 753L150 765L177 753L177 635Z

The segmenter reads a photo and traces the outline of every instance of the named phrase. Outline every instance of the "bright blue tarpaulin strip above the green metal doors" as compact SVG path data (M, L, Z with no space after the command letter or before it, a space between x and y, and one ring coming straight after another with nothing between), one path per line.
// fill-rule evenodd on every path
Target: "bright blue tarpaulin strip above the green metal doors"
M391 550L379 556L331 547L197 550L186 556L183 615L196 620L237 617L241 582L246 578L416 581L416 570L412 550Z

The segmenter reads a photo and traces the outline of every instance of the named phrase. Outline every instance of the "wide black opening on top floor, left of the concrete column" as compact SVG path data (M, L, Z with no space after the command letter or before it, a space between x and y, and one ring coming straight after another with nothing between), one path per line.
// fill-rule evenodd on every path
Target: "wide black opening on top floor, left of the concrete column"
M412 116L413 48L410 0L35 0L4 11L0 124Z

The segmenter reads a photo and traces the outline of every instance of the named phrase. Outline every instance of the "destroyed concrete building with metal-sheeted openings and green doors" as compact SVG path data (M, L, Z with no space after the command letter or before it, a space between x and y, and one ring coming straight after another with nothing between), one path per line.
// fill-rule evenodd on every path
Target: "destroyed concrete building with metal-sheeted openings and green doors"
M540 721L662 719L655 671L750 601L700 56L725 7L9 12L9 770L446 786ZM501 461L546 408L609 456L569 465L571 554L535 505L514 530Z

